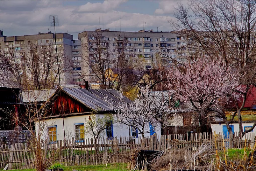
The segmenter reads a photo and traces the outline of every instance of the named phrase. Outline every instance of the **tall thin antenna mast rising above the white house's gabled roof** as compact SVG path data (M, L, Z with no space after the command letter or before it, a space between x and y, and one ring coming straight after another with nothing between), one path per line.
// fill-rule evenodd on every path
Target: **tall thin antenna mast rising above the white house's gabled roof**
M59 61L58 61L58 51L57 51L57 42L56 42L56 27L59 26L58 15L50 15L50 26L54 27L55 50L56 50L58 76L59 76ZM60 76L59 76L59 90L61 90L61 79L60 79ZM60 95L61 95L61 91L60 91ZM63 108L63 102L62 102L62 108ZM64 115L63 115L62 108L61 108L61 112L62 112L62 122L63 122L63 131L64 131L64 144L66 146L65 127L64 127Z

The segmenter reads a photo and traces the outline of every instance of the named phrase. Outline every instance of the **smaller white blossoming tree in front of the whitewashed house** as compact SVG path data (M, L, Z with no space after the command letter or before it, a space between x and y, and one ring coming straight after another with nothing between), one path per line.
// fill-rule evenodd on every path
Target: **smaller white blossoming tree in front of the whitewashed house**
M116 122L137 129L142 137L145 133L152 131L149 129L149 124L153 128L159 127L170 113L169 102L157 100L148 90L149 86L141 87L137 98L131 103L122 102L115 107L108 101L109 106L115 110ZM122 98L121 93L120 97Z

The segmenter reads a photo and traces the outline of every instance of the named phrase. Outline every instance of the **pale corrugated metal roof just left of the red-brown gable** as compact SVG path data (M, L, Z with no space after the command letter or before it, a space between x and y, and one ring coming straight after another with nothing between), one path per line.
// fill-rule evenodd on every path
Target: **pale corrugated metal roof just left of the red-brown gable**
M23 102L45 102L47 101L52 94L56 92L55 89L45 89L45 90L31 90L31 91L22 91Z

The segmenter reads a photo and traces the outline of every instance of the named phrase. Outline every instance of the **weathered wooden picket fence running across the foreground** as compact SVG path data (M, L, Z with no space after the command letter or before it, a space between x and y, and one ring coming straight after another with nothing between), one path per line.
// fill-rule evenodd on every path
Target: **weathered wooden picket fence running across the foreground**
M235 133L236 135L237 133ZM194 153L200 146L207 145L214 151L223 150L223 147L233 148L254 147L255 134L247 133L245 140L225 139L222 133L218 135L208 133L171 134L150 137L128 138L120 137L112 140L101 138L96 145L94 140L87 138L79 142L71 139L66 142L59 140L45 147L48 157L54 156L53 162L71 165L95 165L130 160L131 151L135 149L164 151L169 149L181 149L187 153ZM223 146L224 145L224 146ZM0 168L8 164L8 169L34 168L35 151L30 143L16 143L2 145L0 147Z

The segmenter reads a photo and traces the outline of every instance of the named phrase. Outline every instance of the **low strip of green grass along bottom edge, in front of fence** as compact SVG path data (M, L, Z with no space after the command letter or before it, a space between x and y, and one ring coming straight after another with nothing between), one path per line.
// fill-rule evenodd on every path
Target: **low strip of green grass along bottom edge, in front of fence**
M63 166L64 171L128 171L127 163L113 163L106 165L85 165L85 166ZM12 171L35 171L35 169L23 169L23 170L12 170Z

